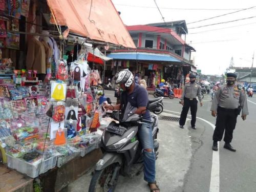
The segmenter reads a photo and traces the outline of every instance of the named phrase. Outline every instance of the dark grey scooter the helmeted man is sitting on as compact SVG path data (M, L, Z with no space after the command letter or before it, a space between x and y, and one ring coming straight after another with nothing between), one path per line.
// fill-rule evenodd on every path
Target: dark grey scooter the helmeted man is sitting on
M110 99L108 102L111 104ZM147 109L156 108L156 104L149 104ZM123 113L113 111L112 118L119 123L111 122L101 137L100 148L103 157L97 162L89 186L89 192L114 191L118 176L134 177L143 170L142 147L138 140L138 127L143 123L151 123L152 137L156 158L159 143L157 142L158 117L152 115L151 121L142 119L135 114L137 110L129 102ZM120 117L120 118L119 118Z

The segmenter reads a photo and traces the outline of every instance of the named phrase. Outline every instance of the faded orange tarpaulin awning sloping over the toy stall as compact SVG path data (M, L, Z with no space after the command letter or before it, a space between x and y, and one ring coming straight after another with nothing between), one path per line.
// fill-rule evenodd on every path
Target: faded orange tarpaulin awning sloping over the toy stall
M111 0L47 0L56 23L90 39L136 48ZM54 20L51 19L51 23Z

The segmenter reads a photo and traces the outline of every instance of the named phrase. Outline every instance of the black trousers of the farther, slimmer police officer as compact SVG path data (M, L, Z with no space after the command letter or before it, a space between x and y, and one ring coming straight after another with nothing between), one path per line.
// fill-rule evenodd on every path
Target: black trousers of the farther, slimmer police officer
M187 118L187 113L190 108L191 112L191 126L196 125L196 119L197 119L197 99L189 100L187 98L184 98L184 105L182 108L182 112L180 114L180 125L184 125Z

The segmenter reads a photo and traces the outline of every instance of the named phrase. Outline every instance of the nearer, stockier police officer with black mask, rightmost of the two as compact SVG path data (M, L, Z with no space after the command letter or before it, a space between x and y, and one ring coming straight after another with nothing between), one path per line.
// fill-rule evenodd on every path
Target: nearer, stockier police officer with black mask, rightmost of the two
M212 150L218 151L218 141L221 141L224 131L224 148L229 151L236 152L231 146L233 138L233 130L236 127L237 117L242 109L242 119L246 119L248 115L247 99L242 90L236 86L237 75L234 73L227 73L226 84L220 86L215 92L214 100L211 104L211 115L216 117L216 127L212 140Z

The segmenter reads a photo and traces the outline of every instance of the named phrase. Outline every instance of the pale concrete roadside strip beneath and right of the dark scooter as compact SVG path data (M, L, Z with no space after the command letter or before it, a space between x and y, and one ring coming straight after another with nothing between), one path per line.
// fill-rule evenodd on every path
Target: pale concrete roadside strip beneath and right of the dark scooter
M161 115L179 117L168 113ZM182 191L183 180L192 157L189 129L186 126L184 129L180 129L179 122L159 120L158 142L160 147L156 161L156 180L161 192ZM68 191L88 191L90 181L91 171L69 184ZM133 179L120 176L115 191L144 192L150 191L150 189L143 180L143 173L141 173Z

